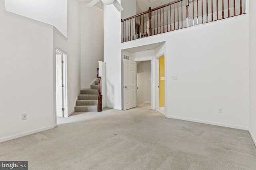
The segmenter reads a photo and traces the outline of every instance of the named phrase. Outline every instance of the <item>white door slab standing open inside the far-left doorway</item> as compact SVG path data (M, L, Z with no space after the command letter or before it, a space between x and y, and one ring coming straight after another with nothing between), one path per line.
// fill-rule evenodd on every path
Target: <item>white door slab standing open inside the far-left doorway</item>
M63 117L63 111L62 111L62 54L56 54L56 110L57 110L57 117Z

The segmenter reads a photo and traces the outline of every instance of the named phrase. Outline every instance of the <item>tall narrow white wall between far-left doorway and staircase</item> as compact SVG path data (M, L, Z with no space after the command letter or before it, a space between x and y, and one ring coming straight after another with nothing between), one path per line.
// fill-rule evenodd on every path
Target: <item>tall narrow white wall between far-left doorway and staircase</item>
M63 49L66 51L66 49ZM80 3L68 0L68 115L80 93Z

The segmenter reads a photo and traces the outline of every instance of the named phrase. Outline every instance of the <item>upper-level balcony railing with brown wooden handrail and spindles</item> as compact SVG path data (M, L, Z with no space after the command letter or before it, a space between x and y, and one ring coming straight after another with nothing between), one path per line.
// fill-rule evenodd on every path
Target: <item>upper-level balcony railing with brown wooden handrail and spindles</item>
M174 0L121 20L122 42L245 13L245 0Z

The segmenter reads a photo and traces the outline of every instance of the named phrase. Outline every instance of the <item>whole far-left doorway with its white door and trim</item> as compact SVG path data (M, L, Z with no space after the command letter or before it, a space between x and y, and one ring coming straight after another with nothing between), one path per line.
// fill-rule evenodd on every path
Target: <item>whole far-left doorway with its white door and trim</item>
M55 49L56 68L56 116L68 117L66 107L66 53L60 49Z

